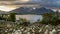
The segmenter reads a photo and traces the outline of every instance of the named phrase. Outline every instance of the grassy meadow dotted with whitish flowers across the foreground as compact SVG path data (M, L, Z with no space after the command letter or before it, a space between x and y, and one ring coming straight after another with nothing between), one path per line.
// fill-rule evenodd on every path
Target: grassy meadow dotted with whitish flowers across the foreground
M8 34L8 33L12 34L16 32L17 33L21 32L22 34L27 34L27 33L44 34L46 32L46 29L49 32L50 31L52 32L54 27L56 29L56 33L59 33L60 31L58 31L58 29L60 28L58 28L58 26L52 26L52 25L47 26L47 25L39 24L39 23L33 23L33 24L30 24L29 26L19 25L17 23L0 23L0 33L1 34Z

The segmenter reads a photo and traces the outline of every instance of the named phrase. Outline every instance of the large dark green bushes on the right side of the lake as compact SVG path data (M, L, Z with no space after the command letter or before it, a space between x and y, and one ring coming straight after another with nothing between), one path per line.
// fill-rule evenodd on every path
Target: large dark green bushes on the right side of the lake
M44 13L42 16L43 16L43 20L41 23L43 24L51 24L54 26L60 24L60 13L59 12Z

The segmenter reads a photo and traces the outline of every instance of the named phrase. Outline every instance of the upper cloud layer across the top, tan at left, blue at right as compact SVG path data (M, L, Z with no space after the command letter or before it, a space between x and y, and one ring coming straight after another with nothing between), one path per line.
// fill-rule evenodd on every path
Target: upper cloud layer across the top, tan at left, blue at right
M60 0L0 0L0 5L38 4L43 7L60 8Z

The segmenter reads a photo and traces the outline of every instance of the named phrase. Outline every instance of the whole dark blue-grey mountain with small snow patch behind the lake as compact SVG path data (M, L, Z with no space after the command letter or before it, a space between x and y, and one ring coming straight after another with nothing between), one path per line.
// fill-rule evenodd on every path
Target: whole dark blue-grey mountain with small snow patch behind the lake
M53 10L46 9L44 7L36 8L36 9L21 7L21 8L17 8L15 10L12 10L9 13L16 13L16 14L36 14L36 15L40 15L40 14L49 13L49 12L53 12Z

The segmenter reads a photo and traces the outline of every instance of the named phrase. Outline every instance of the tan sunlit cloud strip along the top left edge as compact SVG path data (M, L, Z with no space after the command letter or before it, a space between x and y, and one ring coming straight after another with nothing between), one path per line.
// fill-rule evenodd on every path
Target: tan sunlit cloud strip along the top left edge
M0 0L0 4L17 4L17 3L27 3L29 0Z

